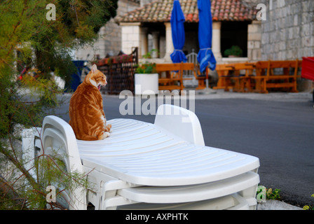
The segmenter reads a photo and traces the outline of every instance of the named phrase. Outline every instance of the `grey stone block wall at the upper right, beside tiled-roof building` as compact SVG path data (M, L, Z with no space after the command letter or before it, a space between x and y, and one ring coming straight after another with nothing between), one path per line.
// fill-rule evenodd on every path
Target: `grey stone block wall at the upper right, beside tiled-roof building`
M261 59L314 56L314 1L270 0L261 21Z

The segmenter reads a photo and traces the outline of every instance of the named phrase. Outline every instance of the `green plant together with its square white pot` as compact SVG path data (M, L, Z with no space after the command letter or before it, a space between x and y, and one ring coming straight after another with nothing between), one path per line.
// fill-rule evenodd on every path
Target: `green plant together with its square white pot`
M150 58L153 50L147 52L143 57ZM158 93L158 73L156 72L156 63L144 62L143 64L137 64L134 76L135 94Z

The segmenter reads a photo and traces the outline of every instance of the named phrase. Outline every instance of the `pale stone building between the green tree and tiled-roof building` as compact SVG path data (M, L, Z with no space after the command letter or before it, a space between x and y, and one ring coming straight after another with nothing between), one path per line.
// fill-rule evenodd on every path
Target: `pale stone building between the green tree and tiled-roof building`
M139 8L139 0L119 0L116 16ZM121 27L114 19L109 20L98 33L100 38L93 45L86 45L74 52L74 59L90 60L104 58L106 55L117 55L121 48Z

